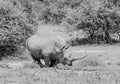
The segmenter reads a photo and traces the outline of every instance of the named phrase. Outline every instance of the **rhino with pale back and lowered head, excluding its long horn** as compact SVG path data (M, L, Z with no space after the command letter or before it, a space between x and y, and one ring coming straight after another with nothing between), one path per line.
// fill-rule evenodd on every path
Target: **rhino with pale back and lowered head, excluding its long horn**
M35 34L26 41L26 46L33 60L40 67L44 67L40 59L44 59L45 67L56 66L58 63L72 65L72 62L64 57L64 50L68 46L60 36L48 39Z

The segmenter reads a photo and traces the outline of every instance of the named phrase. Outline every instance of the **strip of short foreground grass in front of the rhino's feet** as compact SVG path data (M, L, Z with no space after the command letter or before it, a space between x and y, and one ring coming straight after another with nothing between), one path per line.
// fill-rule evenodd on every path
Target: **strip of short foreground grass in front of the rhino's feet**
M72 71L26 68L9 70L0 82L20 84L119 84L119 71Z

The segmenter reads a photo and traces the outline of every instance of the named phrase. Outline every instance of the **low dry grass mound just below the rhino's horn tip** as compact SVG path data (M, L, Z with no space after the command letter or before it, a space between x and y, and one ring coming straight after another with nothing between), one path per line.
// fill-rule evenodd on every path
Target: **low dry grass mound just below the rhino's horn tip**
M97 69L105 67L105 63L98 56L87 56L84 59L78 60L73 63L74 69Z

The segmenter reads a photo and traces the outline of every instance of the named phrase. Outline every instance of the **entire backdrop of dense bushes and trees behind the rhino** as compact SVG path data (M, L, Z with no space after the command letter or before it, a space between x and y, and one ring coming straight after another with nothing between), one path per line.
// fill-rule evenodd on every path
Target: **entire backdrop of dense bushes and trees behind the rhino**
M62 25L87 37L72 45L119 42L119 0L0 0L0 57L18 56L40 23ZM77 43L77 44L76 44Z

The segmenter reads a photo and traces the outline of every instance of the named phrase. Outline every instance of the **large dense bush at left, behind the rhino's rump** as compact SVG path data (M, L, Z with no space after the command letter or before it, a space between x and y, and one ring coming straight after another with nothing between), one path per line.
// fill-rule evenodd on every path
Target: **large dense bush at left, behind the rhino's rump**
M33 33L25 14L9 1L0 3L0 58L22 52Z

